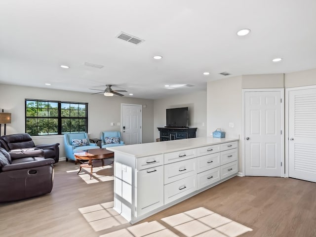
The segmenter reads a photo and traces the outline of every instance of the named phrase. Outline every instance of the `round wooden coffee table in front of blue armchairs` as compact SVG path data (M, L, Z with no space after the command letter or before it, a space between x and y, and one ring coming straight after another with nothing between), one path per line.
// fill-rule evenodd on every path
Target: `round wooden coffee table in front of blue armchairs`
M82 167L83 168L91 168L90 171L90 179L92 178L92 170L93 170L93 160L101 160L102 166L104 166L104 160L107 158L113 158L114 157L114 152L111 152L107 150L106 148L99 148L99 149L90 149L90 150L84 150L81 152L75 152L74 156L76 160L80 162L80 169L77 174L80 173ZM83 160L88 160L84 162Z

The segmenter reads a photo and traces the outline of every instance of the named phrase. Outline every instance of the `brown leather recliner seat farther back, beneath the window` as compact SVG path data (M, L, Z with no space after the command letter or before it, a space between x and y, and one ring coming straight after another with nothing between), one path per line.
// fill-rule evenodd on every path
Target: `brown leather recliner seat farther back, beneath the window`
M59 143L35 145L28 133L4 135L0 137L0 146L7 152L19 149L43 149L44 158L52 158L55 163L59 160Z

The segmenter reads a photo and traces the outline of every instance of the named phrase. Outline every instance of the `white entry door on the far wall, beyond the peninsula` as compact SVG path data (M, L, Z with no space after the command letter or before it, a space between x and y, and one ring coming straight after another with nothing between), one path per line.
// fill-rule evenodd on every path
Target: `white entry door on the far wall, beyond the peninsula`
M142 105L121 105L122 140L125 145L142 143Z

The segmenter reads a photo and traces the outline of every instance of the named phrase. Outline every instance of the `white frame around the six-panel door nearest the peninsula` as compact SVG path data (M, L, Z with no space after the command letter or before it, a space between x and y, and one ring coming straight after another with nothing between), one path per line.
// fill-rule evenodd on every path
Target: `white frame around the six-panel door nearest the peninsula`
M272 92L277 91L280 92L280 96L282 99L282 108L281 108L281 176L280 177L286 177L285 176L285 157L284 157L284 135L285 135L285 129L284 129L284 88L258 88L258 89L242 89L242 125L241 125L241 147L242 147L242 172L241 176L245 176L246 172L246 157L245 157L245 93L246 92ZM240 172L239 172L240 173Z

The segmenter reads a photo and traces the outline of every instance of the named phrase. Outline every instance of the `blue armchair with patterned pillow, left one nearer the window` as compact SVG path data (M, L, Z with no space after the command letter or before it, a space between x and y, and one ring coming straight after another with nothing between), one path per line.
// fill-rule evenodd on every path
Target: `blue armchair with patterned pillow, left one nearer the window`
M85 139L85 140L83 140L82 142L82 139ZM73 143L72 140L75 140L74 141L75 143ZM100 148L97 146L97 144L91 143L89 141L89 137L86 132L66 133L64 134L64 142L65 142L66 161L68 161L68 159L76 160L74 156L75 152Z

